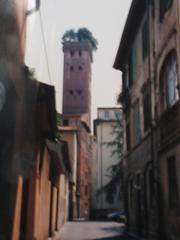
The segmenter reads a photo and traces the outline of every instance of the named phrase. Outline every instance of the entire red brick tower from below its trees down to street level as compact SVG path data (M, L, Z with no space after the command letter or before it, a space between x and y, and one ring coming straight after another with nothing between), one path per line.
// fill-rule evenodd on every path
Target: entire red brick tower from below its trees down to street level
M92 48L88 42L64 42L63 125L77 128L77 213L89 217Z

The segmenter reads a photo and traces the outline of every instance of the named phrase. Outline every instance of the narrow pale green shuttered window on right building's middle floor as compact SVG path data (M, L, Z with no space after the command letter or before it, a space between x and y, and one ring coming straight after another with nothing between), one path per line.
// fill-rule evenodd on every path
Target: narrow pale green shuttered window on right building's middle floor
M133 129L134 143L136 144L141 138L139 102L137 102L133 108Z

